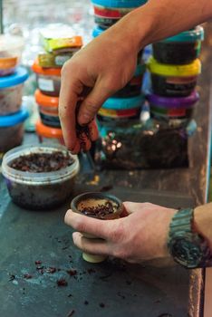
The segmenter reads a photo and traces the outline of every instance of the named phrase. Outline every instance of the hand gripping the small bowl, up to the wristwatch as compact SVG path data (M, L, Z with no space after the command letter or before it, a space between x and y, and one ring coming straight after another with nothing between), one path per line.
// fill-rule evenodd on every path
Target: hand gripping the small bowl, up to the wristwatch
M74 245L94 255L112 255L130 263L169 256L167 238L174 209L149 203L125 202L129 216L116 220L99 220L68 210L65 223L78 232L72 235ZM87 239L83 233L100 239Z

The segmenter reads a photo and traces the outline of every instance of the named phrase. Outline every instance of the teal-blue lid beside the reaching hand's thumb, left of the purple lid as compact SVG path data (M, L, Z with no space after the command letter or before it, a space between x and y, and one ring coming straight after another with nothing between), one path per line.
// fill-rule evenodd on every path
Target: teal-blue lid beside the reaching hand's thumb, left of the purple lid
M109 98L102 104L102 108L110 110L128 110L141 107L143 102L143 95L131 98Z

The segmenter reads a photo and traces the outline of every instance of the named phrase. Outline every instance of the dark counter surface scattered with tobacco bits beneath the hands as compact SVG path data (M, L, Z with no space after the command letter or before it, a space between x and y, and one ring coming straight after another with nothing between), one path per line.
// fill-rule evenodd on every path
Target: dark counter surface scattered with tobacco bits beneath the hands
M212 24L207 24L208 31L212 33ZM83 157L84 169L72 197L109 190L123 201L166 207L207 202L211 45L212 38L206 35L198 82L201 101L195 114L198 132L189 140L189 168L98 172ZM0 193L0 316L204 316L204 270L151 268L116 259L87 264L72 245L72 229L63 223L72 197L59 209L35 212L11 202L2 177ZM207 280L206 285L209 290ZM211 317L207 305L206 296L204 317Z

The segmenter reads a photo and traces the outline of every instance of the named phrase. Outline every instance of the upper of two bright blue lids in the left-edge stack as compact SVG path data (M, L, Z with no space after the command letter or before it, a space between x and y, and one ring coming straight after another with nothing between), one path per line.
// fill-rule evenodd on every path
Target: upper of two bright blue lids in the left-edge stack
M18 67L12 75L0 77L0 89L9 88L23 83L28 78L28 72L22 66Z

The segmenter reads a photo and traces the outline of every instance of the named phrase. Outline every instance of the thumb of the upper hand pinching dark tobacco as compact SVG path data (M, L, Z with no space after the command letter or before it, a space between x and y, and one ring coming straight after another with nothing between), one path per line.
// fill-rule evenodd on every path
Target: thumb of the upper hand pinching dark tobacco
M112 93L105 93L105 91L107 90L105 88L103 89L101 83L96 83L92 91L82 101L78 114L78 122L80 125L87 124L93 120L98 110L101 108L102 103L106 101Z

